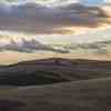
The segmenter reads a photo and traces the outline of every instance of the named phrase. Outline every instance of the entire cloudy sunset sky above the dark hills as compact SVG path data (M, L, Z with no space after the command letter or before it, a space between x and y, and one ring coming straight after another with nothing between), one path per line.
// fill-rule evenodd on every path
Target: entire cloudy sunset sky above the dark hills
M42 53L47 58L53 53L64 57L78 54L79 58L90 56L91 59L93 56L110 58L110 2L111 0L2 0L0 64L26 58L38 59Z

